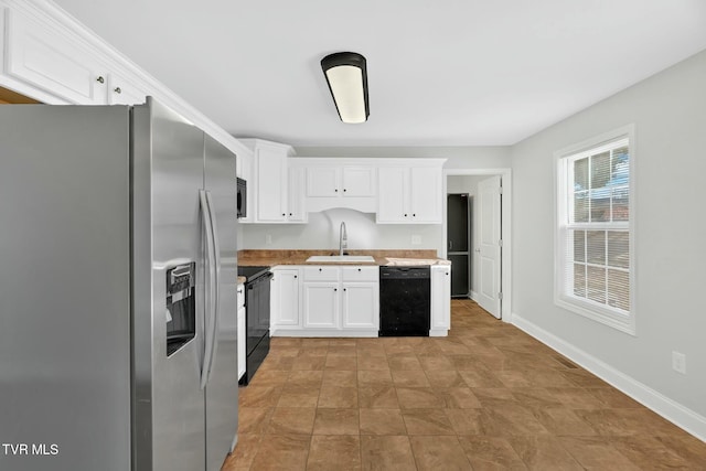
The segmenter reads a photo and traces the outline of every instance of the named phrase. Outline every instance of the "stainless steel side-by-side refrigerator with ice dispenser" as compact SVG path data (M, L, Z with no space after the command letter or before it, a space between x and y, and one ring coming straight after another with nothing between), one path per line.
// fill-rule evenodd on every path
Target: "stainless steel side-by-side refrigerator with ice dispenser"
M217 470L235 156L148 98L0 106L0 469Z

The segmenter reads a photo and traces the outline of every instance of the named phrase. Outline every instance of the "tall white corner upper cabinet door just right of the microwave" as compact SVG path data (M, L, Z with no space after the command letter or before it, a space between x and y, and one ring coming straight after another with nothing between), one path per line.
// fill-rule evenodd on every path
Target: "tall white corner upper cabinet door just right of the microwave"
M282 202L287 192L287 156L266 147L256 151L257 161L257 220L259 222L284 222L287 213Z

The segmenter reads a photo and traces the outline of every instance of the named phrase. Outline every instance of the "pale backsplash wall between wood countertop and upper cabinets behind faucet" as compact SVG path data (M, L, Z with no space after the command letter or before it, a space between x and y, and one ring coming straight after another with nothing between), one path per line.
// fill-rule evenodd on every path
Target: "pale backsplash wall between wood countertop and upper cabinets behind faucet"
M440 224L375 224L375 214L334 208L310 213L308 224L240 224L240 249L339 249L339 228L345 222L350 250L399 248L439 249ZM419 236L420 244L411 244ZM268 243L271 240L271 243Z

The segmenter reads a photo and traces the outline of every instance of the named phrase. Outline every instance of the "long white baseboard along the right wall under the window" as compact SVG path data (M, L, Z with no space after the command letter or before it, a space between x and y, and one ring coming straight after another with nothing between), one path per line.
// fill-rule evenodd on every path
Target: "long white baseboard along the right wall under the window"
M616 370L591 354L577 349L514 312L511 322L516 328L570 358L677 427L683 428L699 440L706 441L706 417Z

